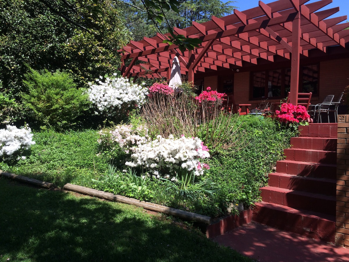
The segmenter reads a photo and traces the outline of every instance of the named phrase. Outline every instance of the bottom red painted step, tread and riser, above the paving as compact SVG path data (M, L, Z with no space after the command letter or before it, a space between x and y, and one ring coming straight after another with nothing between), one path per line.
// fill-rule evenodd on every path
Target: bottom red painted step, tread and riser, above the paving
M260 202L253 209L253 220L281 230L334 242L335 216Z

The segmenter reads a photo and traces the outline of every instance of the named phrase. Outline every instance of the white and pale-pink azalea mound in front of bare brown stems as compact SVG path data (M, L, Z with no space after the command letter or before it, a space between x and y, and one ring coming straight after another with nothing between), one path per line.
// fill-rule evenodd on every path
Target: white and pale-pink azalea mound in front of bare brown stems
M112 150L118 145L128 154L130 161L126 162L127 166L146 168L157 178L169 178L179 169L198 176L209 168L207 164L200 162L201 159L210 157L208 148L197 137L188 138L182 135L174 138L170 135L163 138L159 135L151 140L146 126L132 124L118 125L110 131L101 130L99 135L99 144ZM166 174L162 170L166 170Z

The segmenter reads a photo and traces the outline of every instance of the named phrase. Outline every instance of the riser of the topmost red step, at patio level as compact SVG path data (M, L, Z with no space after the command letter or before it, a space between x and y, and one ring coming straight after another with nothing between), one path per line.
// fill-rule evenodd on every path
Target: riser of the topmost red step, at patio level
M301 137L333 137L337 138L337 124L310 124L299 126Z

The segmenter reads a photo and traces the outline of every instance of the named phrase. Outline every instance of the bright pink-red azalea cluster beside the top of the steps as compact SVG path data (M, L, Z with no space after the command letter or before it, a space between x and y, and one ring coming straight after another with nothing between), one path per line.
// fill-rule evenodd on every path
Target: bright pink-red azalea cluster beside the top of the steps
M290 103L281 104L280 111L275 110L275 117L284 123L299 123L310 118L303 105L293 105Z

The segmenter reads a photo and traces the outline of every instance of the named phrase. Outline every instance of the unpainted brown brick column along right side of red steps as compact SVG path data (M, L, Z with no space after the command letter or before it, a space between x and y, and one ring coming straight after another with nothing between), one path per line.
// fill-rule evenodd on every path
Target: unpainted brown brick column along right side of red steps
M349 248L349 115L338 116L335 242Z

